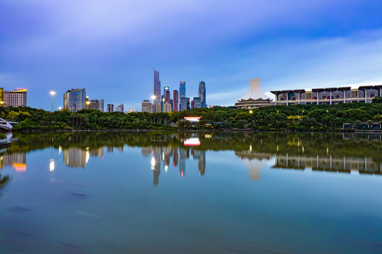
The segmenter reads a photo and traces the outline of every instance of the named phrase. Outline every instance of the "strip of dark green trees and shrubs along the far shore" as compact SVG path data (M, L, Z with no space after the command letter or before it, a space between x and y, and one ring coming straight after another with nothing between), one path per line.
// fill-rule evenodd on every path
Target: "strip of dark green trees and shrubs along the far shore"
M381 128L382 100L373 103L308 104L271 106L259 109L192 109L170 113L106 113L93 109L45 111L30 107L1 107L0 117L17 121L14 131L129 130L129 129L206 129L259 131L339 131L342 128ZM184 116L200 116L198 123L183 121Z

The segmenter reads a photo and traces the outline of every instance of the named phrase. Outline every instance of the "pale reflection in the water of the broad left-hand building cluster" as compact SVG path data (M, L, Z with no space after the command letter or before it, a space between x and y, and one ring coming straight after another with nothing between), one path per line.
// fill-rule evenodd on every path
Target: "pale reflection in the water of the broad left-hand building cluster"
M69 147L63 150L64 164L72 168L85 168L91 157L103 157L104 147L85 149L79 147Z

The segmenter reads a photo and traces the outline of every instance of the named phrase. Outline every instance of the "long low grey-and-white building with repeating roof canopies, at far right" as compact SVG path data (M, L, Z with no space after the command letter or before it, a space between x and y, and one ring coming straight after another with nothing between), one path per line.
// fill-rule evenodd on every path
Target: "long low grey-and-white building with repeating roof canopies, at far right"
M352 87L313 88L270 91L274 94L274 105L294 104L339 104L351 102L371 102L382 96L382 85L362 85Z

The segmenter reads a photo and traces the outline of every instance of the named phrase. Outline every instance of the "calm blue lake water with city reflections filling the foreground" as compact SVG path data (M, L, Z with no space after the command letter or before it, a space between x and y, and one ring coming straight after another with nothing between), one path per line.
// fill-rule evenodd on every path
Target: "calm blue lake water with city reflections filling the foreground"
M381 253L380 134L15 134L0 253Z

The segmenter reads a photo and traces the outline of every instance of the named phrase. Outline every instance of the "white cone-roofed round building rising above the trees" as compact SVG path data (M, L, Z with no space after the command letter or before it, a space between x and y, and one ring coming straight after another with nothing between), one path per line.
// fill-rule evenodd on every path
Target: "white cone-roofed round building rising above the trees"
M251 78L248 92L235 103L236 109L255 109L266 106L270 106L270 98L262 92L260 78Z

